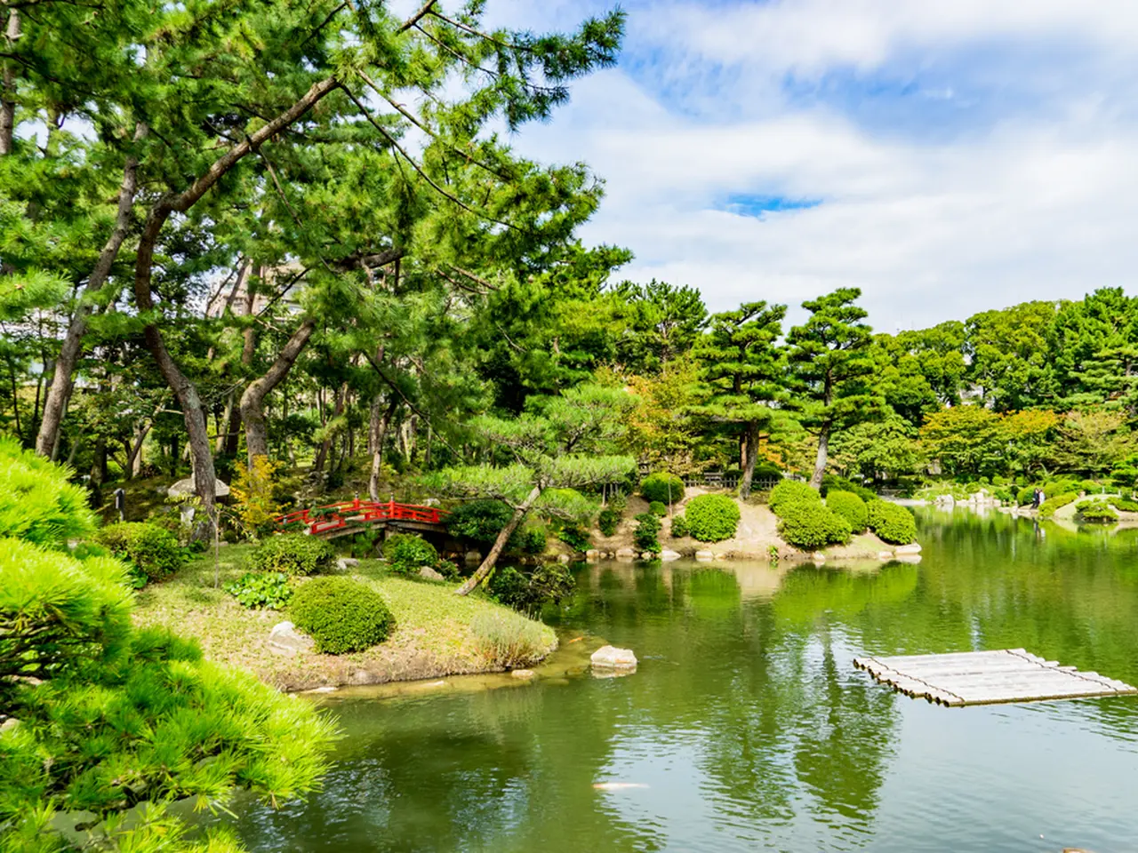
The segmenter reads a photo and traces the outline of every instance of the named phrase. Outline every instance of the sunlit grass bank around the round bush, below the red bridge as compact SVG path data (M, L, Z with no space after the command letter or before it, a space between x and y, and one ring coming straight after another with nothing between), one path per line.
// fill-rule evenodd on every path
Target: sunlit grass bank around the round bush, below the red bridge
M488 641L486 624L523 619L485 598L456 596L450 585L393 577L381 561L363 560L345 574L385 598L396 619L391 636L366 652L283 656L270 651L267 640L272 627L288 619L287 612L246 610L221 589L245 573L249 550L246 545L221 549L217 587L213 554L167 581L148 586L139 593L135 621L197 637L211 660L247 669L282 690L306 690L500 672L501 656ZM553 629L531 620L527 623L542 656L556 647Z

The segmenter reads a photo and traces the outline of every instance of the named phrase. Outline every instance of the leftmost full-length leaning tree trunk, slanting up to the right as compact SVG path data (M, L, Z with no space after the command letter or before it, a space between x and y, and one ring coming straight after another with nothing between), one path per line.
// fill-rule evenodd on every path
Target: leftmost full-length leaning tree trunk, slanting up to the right
M138 135L140 134L135 134L135 136ZM67 334L64 336L59 357L56 359L51 388L48 390L48 399L43 405L43 421L40 423L39 434L35 438L35 452L41 456L49 456L51 448L59 440L64 411L71 400L75 364L83 350L86 321L94 309L91 297L107 282L110 267L114 265L115 258L118 257L118 250L126 239L131 208L134 206L134 193L138 189L138 160L133 157L126 158L126 165L123 168L123 183L118 189L118 213L115 215L115 230L102 247L102 251L99 252L99 259L94 264L91 278L86 280L86 287L80 295L79 304L75 306L75 315L72 317L71 325L67 326Z

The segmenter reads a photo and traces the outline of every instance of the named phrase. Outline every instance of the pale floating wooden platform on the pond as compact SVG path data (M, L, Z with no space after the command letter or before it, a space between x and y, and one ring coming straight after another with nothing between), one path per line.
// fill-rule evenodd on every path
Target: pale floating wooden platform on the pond
M901 693L941 705L1073 699L1138 694L1097 672L1061 666L1022 648L945 655L858 657L853 665Z

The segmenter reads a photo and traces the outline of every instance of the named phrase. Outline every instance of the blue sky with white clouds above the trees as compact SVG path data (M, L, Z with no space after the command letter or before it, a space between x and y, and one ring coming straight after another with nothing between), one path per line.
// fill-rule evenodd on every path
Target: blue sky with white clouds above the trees
M582 230L711 310L857 287L880 331L1132 291L1133 0L628 0L617 67L514 149L584 160ZM564 30L611 3L490 0ZM791 320L800 317L791 312Z

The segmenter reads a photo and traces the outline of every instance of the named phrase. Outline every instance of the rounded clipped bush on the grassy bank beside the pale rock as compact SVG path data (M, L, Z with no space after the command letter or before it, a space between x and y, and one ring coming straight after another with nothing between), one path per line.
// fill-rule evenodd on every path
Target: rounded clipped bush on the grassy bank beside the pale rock
M292 594L292 622L316 641L321 654L362 652L382 643L395 627L387 603L351 578L313 578Z

